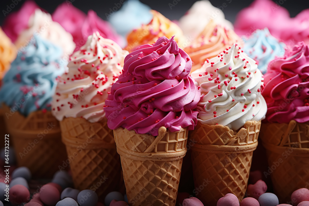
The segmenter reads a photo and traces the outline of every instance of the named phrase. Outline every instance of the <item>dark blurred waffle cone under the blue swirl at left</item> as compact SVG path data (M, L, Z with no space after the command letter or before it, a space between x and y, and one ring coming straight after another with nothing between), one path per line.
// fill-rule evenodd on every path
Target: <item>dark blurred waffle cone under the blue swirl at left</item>
M28 167L36 178L52 177L66 159L59 122L50 111L35 111L25 117L5 105L3 110L17 165Z

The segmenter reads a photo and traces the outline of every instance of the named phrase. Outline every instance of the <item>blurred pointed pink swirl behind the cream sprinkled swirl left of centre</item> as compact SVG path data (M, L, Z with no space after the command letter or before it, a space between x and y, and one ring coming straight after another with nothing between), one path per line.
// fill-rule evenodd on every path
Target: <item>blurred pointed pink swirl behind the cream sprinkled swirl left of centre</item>
M82 26L82 35L84 39L91 35L93 32L99 32L103 38L111 39L119 44L121 47L124 46L124 39L116 33L112 25L101 19L95 11L89 10L87 18Z

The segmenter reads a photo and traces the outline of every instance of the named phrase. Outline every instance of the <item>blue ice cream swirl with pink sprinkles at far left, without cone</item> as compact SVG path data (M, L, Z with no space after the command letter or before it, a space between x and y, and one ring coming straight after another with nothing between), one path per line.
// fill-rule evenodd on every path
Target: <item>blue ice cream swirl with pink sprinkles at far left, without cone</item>
M62 49L34 36L23 52L17 54L5 74L0 102L28 116L33 111L50 110L57 77L66 71Z

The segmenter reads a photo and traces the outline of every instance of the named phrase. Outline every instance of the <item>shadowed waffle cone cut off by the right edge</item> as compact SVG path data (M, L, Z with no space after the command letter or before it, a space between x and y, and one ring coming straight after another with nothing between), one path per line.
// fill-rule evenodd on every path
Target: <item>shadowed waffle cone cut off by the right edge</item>
M309 125L263 123L260 138L266 148L268 171L280 202L290 201L293 191L309 184Z

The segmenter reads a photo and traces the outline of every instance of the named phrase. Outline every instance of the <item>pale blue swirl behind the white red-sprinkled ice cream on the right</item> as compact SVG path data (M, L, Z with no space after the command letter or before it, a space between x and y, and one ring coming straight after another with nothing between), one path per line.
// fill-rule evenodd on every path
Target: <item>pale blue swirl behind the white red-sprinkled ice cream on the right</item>
M243 37L243 41L243 51L258 63L263 74L266 73L270 61L285 53L286 44L273 37L268 28L257 29L249 38Z

